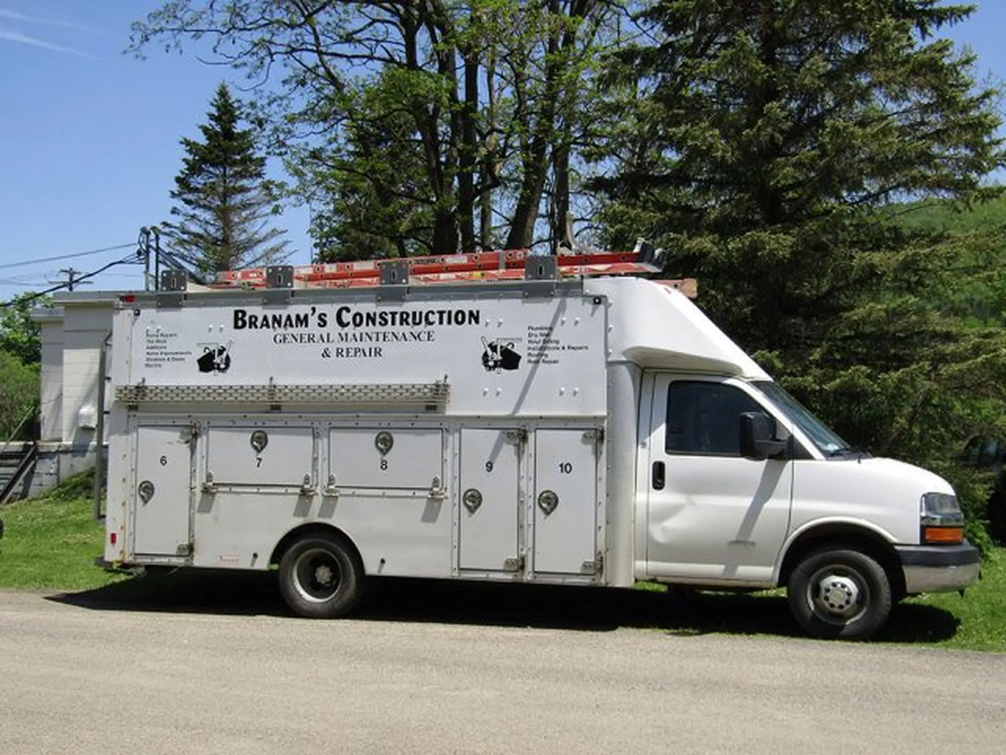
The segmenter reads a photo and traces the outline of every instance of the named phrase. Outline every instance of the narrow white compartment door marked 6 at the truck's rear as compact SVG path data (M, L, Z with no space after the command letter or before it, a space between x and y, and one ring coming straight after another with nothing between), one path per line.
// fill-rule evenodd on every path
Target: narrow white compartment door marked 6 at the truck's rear
M133 481L133 553L137 556L189 556L191 505L191 428L137 429Z

